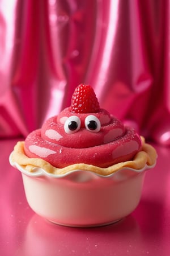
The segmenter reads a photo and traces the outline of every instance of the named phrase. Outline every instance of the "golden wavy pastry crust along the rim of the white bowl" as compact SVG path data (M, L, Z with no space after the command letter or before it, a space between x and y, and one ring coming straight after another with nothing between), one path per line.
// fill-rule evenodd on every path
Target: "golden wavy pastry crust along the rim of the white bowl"
M116 172L122 168L130 167L134 168L135 170L141 170L146 166L152 166L156 162L157 154L154 147L150 144L145 142L145 138L141 137L142 139L142 150L139 151L133 158L133 160L121 162L117 164L113 164L107 168L101 168L97 166L93 166L90 164L78 163L73 164L64 168L56 168L42 160L40 158L28 158L27 155L24 153L24 142L18 142L15 147L14 151L11 154L12 162L18 163L28 172L33 172L35 167L40 167L46 172L49 172L54 175L62 175L66 174L67 172L74 171L74 170L85 170L85 171L92 171L100 175L110 175L113 172Z

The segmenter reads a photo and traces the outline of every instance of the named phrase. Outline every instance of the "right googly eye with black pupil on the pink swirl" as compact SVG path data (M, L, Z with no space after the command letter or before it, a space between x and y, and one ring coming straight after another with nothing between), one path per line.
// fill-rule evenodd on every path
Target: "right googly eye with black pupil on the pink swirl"
M86 129L92 131L92 133L98 133L101 128L100 121L95 115L88 115L85 119Z

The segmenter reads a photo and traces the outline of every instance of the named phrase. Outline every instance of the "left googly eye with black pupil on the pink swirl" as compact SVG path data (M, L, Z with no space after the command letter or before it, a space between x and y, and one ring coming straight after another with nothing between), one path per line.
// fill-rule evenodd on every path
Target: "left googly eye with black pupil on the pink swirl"
M80 129L81 121L80 118L76 117L76 115L72 115L67 118L64 129L68 134L76 133Z

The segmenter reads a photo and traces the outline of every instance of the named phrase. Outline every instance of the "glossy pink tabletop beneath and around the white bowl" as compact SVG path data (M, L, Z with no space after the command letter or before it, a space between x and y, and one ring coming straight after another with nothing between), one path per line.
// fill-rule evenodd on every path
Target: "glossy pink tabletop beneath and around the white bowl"
M100 228L67 228L28 207L22 176L8 163L16 141L0 141L0 255L170 255L170 148L156 146L158 163L147 172L141 202L130 216Z

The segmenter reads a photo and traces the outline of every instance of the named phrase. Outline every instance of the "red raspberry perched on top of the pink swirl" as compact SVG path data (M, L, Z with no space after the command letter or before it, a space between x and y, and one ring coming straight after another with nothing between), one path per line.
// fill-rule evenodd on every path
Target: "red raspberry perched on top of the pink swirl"
M94 89L90 85L80 84L71 98L72 113L96 113L100 109Z

